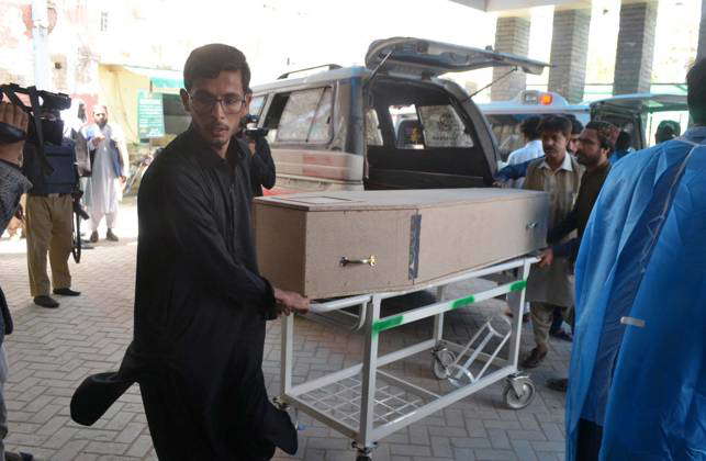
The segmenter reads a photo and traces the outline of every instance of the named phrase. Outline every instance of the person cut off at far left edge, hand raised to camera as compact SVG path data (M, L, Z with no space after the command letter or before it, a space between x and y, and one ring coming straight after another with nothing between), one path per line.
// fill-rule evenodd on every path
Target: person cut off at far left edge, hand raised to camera
M14 128L27 131L27 114L20 108L0 102L0 123ZM20 196L32 184L22 175L22 147L24 142L0 143L0 234L2 234L20 205ZM4 438L8 435L8 409L4 403L4 384L8 381L8 359L4 348L4 335L12 333L12 317L8 303L0 288L0 460L27 461L27 453L4 451Z

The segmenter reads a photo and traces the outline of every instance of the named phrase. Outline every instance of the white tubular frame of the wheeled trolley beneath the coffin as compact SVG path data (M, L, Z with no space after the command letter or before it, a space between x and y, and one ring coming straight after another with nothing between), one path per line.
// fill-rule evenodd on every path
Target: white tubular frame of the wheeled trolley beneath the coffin
M371 450L377 446L377 442L384 437L503 379L508 380L506 393L509 387L512 387L516 395L522 395L523 392L527 391L527 386L524 385L524 383L527 382L529 382L531 387L530 392L534 393L531 381L529 381L528 376L518 373L517 366L519 360L525 286L527 284L527 277L529 276L529 268L537 261L538 259L535 257L523 257L508 262L464 271L428 284L414 286L406 291L371 293L312 304L312 312L315 314L333 313L345 307L360 306L359 322L357 322L351 329L362 331L365 337L363 357L361 362L352 367L296 385L292 384L294 316L283 317L281 323L282 380L280 396L276 398L276 403L280 407L292 406L298 411L306 413L314 419L351 438L354 440L354 448L358 450L358 459L365 460L370 459L368 457L371 454ZM515 269L518 269L519 272L519 277L515 281L453 300L447 301L444 299L445 290L451 283ZM426 289L437 290L437 302L412 308L401 314L380 317L380 305L383 300ZM478 376L479 379L475 382L458 387L445 395L438 395L435 392L430 392L401 378L394 376L386 371L379 370L380 367L388 366L425 350L436 351L440 348L448 348L456 352L461 351L466 346L444 340L445 313L460 307L471 306L473 303L503 294L507 294L507 302L514 314L512 319L512 334L508 341L509 357L501 358L480 351L478 353L480 360L492 361L493 366L500 368L489 371L485 375ZM382 331L428 317L434 317L432 338L413 346L407 346L401 350L379 356L379 335ZM471 349L471 352L474 352L474 350ZM358 382L354 376L359 374L362 375L362 379ZM390 385L379 386L379 380L390 383ZM324 393L322 397L321 390L332 385L337 385L338 392ZM386 391L391 387L397 391ZM312 397L312 395L317 392L320 396ZM417 395L419 398L417 398L415 403L405 402L401 397L401 392ZM359 393L359 398L357 397L357 393ZM376 396L381 396L382 398L376 400ZM326 407L324 401L334 398L340 398L343 402L338 405ZM423 401L425 400L428 402L424 403ZM348 405L346 405L346 401L348 401ZM399 407L395 408L391 402L396 402L402 405L397 405ZM419 404L419 402L422 402L422 404ZM325 408L322 409L322 406ZM341 411L344 406L347 408ZM403 413L402 409L407 406L410 411ZM358 408L356 409L356 407ZM376 415L376 407L390 409L390 412L385 415ZM358 417L356 417L356 415L358 415ZM376 425L378 420L380 420L381 424Z

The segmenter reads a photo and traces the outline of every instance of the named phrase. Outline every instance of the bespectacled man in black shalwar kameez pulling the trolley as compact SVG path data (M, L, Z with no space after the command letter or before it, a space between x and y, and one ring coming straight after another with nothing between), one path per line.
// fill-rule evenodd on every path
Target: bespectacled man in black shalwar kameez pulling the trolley
M192 115L139 189L135 336L117 373L87 379L71 416L91 424L137 381L161 460L268 460L296 451L287 413L268 401L265 322L309 301L258 274L250 155L233 137L249 69L226 45L192 52L181 97Z

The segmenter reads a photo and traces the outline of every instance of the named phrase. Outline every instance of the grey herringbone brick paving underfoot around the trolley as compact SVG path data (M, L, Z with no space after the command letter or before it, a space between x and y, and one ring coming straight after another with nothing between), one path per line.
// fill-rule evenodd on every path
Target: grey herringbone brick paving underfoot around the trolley
M58 310L31 303L24 241L0 241L0 283L14 315L15 333L8 337L10 379L9 448L33 452L46 460L148 460L156 459L139 393L130 390L93 427L69 418L69 401L81 380L94 372L115 369L132 337L135 277L135 207L123 210L117 244L100 243L86 251L80 265L71 261L78 299L63 299ZM103 236L101 232L101 236ZM488 283L475 282L477 285ZM455 286L463 293L468 285ZM504 303L492 300L472 312L447 316L451 338L469 338L485 315ZM265 375L274 395L279 390L279 322L268 327ZM430 323L403 326L381 335L381 350L400 348L430 335ZM530 345L525 326L524 349ZM362 338L344 330L298 319L295 381L337 370L360 358ZM569 345L553 341L548 360L533 373L538 394L520 411L502 402L502 384L495 384L459 404L439 412L384 439L374 460L563 460L563 395L549 391L548 378L563 375ZM430 374L428 352L392 368L430 389L441 389ZM302 426L300 450L277 460L352 461L349 440L304 415L293 415Z

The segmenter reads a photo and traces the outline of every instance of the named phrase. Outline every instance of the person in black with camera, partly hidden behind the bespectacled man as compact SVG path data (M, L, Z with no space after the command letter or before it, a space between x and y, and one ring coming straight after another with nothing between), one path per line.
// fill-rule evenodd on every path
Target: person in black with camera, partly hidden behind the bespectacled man
M253 95L253 90L247 89L247 95ZM250 108L248 106L248 112ZM256 115L246 115L242 124L240 135L248 143L251 154L250 161L250 184L253 185L253 196L262 196L262 188L272 189L277 177L274 175L274 160L272 151L267 142L267 128L257 127L258 117ZM255 125L248 127L248 125Z

